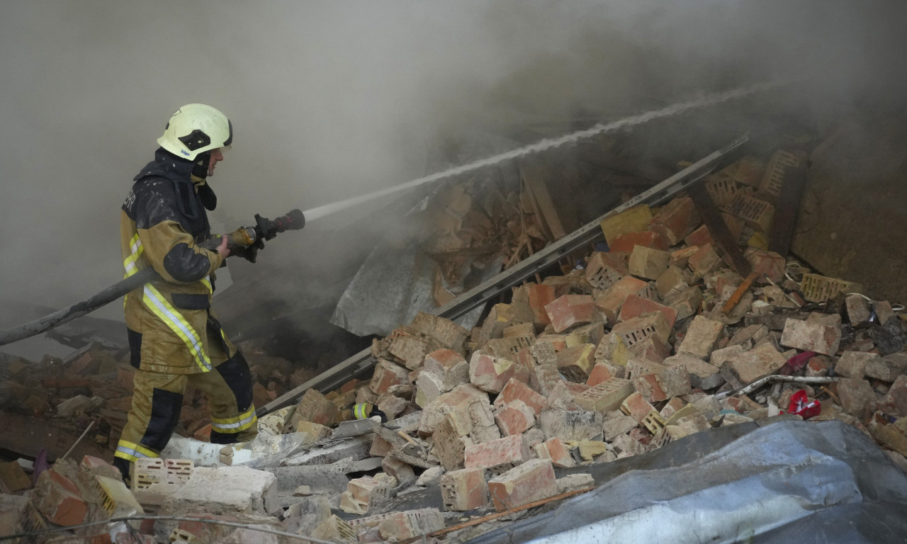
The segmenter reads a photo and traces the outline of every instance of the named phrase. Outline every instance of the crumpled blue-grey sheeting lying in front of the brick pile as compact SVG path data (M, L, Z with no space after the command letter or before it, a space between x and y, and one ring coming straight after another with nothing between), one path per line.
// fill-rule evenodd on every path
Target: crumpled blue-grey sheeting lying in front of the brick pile
M853 544L902 542L907 534L907 476L853 427L787 421L729 443L720 435L668 444L672 459L648 463L659 468L624 472L470 543ZM718 445L702 454L701 443L689 442L684 459L688 439Z

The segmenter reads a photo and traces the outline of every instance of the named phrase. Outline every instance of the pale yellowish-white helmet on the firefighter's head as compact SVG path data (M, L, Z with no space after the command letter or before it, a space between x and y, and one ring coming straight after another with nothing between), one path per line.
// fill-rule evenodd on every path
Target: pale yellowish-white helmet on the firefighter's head
M171 115L158 144L183 159L195 160L205 151L228 148L233 124L227 116L205 104L186 104Z

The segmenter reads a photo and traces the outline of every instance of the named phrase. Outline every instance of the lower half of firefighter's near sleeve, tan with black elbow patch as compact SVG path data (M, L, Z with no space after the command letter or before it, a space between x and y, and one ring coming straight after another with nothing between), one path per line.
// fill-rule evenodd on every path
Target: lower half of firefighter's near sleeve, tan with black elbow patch
M197 246L176 221L168 219L138 230L145 256L167 281L197 282L217 270L224 260L218 252Z

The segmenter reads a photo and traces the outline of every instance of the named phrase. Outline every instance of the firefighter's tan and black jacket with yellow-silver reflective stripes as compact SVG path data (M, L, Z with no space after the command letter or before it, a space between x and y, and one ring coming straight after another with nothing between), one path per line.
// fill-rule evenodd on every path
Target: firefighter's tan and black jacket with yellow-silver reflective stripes
M122 205L125 276L145 267L161 275L126 296L131 363L141 370L208 372L212 338L228 357L236 353L210 309L214 271L223 257L197 245L210 238L205 209L214 209L216 199L204 180L191 175L192 166L159 149Z

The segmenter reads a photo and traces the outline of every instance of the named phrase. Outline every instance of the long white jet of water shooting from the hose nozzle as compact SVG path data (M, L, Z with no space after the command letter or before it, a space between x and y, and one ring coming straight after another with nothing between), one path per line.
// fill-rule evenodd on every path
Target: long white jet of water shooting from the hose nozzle
M737 89L732 89L725 92L716 92L713 94L707 94L699 98L687 101L687 102L677 102L671 104L660 110L652 110L650 112L640 113L639 115L633 115L621 119L619 121L612 121L609 123L599 123L590 129L584 131L571 132L564 136L559 136L557 138L546 138L541 141L517 148L511 151L505 151L501 154L494 155L493 157L488 157L481 160L476 160L469 164L463 164L461 166L454 167L452 169L436 172L425 176L424 178L419 178L418 180L407 181L400 185L395 185L387 189L376 190L375 192L370 192L365 195L359 195L351 199L340 200L339 202L333 202L331 204L325 204L324 206L318 206L317 208L309 209L305 213L306 220L311 222L315 219L326 217L332 213L336 213L343 209L351 208L363 202L369 200L377 199L385 195L393 194L398 191L413 189L424 183L430 183L432 181L446 180L447 178L452 178L453 176L459 176L473 170L480 170L485 167L493 166L504 160L518 159L520 157L525 157L527 155L532 155L534 153L539 153L541 151L548 151L561 145L575 143L580 140L585 140L593 136L598 136L600 134L605 134L607 132L619 131L626 129L628 127L636 126L643 124L649 121L654 121L656 119L662 119L665 117L672 117L679 115L681 113L689 112L691 110L697 110L700 108L705 108L708 106L716 105L722 102L727 102L730 100L736 100L744 98L750 94L756 92L764 92L770 89L774 89L783 85L784 83L780 82L770 82L770 83L757 83L756 85L750 85L748 87L740 87Z

